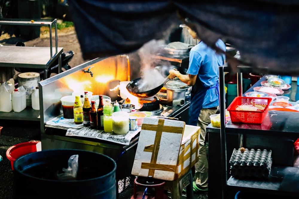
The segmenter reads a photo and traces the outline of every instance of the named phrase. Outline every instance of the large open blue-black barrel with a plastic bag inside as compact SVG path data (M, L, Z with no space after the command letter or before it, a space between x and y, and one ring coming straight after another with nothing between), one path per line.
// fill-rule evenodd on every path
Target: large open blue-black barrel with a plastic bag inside
M79 155L77 179L60 181L57 172L68 168L71 155ZM116 198L116 163L103 154L57 149L30 153L13 164L13 198Z

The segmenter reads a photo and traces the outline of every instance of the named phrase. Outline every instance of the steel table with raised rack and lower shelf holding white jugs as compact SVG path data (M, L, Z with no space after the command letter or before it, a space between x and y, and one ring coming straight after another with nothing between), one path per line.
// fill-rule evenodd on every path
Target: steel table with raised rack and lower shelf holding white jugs
M34 22L31 22L34 20ZM0 67L39 68L44 70L44 79L48 77L47 69L58 58L58 73L61 72L62 47L58 47L57 19L1 19L2 25L48 26L50 29L50 47L1 46ZM55 27L55 47L52 46L52 27ZM53 54L53 52L55 52ZM41 95L41 94L40 94ZM21 112L0 112L0 119L40 121L40 112L27 107Z

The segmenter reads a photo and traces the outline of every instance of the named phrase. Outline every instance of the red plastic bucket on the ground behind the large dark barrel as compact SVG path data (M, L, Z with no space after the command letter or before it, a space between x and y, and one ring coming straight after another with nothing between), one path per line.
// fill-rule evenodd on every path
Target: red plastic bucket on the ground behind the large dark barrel
M39 142L40 141L23 142L9 147L6 151L6 157L10 160L11 169L13 169L13 163L17 158L28 153L36 152L36 144Z

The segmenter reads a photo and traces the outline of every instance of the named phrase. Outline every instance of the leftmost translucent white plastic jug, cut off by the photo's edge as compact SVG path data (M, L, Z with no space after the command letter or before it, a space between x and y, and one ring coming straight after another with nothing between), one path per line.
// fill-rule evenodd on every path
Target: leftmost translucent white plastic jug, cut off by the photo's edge
M0 85L0 111L2 112L10 112L13 110L12 96L9 90L9 85L5 83Z

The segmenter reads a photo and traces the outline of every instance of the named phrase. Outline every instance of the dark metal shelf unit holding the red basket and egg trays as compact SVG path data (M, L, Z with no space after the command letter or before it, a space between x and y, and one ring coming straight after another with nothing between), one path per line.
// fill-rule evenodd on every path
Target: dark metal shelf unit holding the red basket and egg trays
M241 67L240 67L241 68ZM242 124L232 123L229 121L225 125L225 93L224 90L224 67L219 68L220 79L220 107L221 107L221 128L220 141L221 141L221 175L222 175L222 198L228 195L229 190L239 190L246 192L256 192L265 194L275 194L283 196L297 196L299 190L296 184L299 180L294 176L299 174L299 168L289 166L274 166L271 167L271 174L266 179L257 178L233 178L228 179L228 161L227 158L227 142L226 134L245 135L251 134L256 136L272 136L278 138L298 138L298 124L294 121L299 119L298 112L269 111L264 118L262 124ZM250 71L251 70L251 71ZM251 67L244 67L239 72L254 71ZM261 81L261 80L260 80ZM258 81L254 86L260 84ZM241 81L242 82L242 81ZM253 87L254 87L253 86ZM251 88L252 89L252 88ZM248 90L249 91L249 90ZM241 95L239 95L241 96ZM239 143L238 143L239 144ZM227 180L228 179L228 180Z

